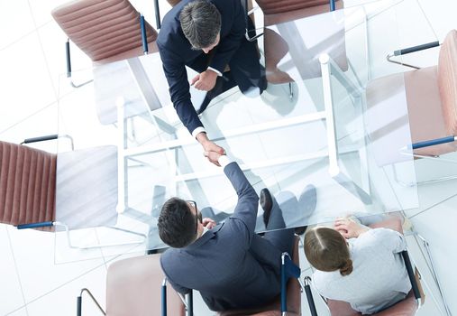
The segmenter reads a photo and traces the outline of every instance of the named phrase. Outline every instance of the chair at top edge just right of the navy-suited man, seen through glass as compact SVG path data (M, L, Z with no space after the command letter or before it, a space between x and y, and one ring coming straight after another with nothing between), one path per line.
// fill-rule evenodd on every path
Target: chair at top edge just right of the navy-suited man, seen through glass
M343 1L339 0L257 0L264 17L264 53L267 80L272 84L288 83L289 98L293 98L291 83L294 81L287 72L279 70L279 61L288 53L296 62L297 69L302 79L311 79L321 76L318 63L315 62L321 53L328 53L336 60L339 67L348 69L345 53L344 28L340 25L331 26L333 21L328 21L327 28L338 28L332 38L323 39L318 48L307 48L300 41L299 30L293 21L316 14L324 14L335 9L343 8ZM336 24L336 23L334 23ZM277 31L271 26L275 25ZM316 26L317 27L317 26ZM284 38L288 38L286 41ZM293 39L293 41L292 41ZM289 46L292 42L294 44ZM315 51L318 49L318 51ZM306 51L310 53L306 56Z

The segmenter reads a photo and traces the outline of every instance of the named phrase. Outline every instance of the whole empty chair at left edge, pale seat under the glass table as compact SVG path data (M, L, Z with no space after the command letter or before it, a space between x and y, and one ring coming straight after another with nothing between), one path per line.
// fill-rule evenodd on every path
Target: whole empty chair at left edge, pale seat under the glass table
M24 144L57 139L35 137ZM58 159L59 157L59 159ZM99 146L66 153L47 153L0 141L0 222L18 229L108 227L117 222L117 149ZM59 211L56 212L56 209ZM120 229L146 238L143 234ZM138 241L129 242L138 243Z

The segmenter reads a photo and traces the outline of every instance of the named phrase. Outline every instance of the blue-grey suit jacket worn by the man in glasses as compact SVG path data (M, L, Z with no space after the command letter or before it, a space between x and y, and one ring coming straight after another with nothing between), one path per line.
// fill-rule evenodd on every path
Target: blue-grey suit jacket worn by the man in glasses
M259 197L237 163L224 172L238 194L233 216L160 257L173 288L199 291L213 311L257 307L280 293L281 252L254 233Z

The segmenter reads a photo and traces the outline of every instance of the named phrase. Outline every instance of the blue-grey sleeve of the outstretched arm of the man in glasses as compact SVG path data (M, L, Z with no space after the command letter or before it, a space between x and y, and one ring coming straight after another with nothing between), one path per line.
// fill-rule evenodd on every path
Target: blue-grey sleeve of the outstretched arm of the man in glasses
M238 195L238 202L233 211L233 216L231 216L232 224L244 235L245 246L249 247L256 224L259 196L246 179L238 163L227 164L224 172Z

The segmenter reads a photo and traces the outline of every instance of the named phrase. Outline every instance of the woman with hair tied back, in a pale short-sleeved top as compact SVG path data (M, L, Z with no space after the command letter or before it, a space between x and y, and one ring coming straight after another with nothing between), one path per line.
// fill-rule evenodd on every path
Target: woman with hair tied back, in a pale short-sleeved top
M305 255L316 269L315 289L325 298L349 302L371 314L403 300L411 290L401 252L405 237L388 228L370 229L351 218L334 228L317 226L305 235Z

